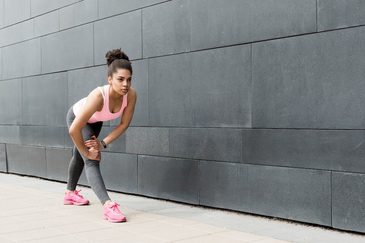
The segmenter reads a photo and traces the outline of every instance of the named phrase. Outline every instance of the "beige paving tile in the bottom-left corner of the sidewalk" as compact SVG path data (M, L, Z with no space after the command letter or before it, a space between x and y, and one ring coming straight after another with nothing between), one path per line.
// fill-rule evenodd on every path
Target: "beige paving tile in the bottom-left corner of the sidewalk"
M4 237L11 239L11 240L15 240L16 242L42 239L42 238L47 238L47 237L52 237L52 236L57 236L57 235L62 235L62 233L57 232L55 230L51 230L49 228L25 230L25 231L22 231L21 234L19 234L19 232L3 234Z

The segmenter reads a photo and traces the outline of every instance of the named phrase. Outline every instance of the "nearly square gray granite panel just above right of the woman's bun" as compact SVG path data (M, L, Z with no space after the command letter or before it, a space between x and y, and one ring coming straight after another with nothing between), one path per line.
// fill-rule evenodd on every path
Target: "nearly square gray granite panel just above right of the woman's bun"
M190 51L189 0L142 9L143 58Z

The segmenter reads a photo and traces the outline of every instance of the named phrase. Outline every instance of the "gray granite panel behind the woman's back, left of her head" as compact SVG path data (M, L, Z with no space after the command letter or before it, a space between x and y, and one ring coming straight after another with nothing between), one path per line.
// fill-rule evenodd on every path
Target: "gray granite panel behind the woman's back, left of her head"
M106 63L106 61L105 61ZM108 84L107 65L69 70L68 78L68 106L89 95L98 86ZM105 125L105 122L104 122Z

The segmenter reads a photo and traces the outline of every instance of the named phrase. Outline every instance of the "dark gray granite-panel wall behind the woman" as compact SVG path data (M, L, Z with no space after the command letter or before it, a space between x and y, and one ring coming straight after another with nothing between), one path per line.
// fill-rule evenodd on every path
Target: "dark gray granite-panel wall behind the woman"
M121 47L138 99L102 152L108 189L365 232L364 13L358 0L0 0L0 171L66 181L66 113Z

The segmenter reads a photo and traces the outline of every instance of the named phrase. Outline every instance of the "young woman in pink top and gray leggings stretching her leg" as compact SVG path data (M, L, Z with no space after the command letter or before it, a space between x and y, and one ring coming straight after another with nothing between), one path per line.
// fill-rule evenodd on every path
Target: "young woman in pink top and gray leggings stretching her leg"
M73 157L69 165L67 190L64 204L85 205L89 200L84 199L76 184L85 164L88 182L103 204L103 218L110 222L124 222L126 217L119 211L119 204L112 202L105 189L100 174L100 149L106 148L111 142L127 130L136 102L136 92L131 88L132 66L129 58L120 49L108 51L105 55L108 64L108 83L97 87L88 97L76 102L68 111L67 125L75 143ZM120 124L103 140L99 141L103 121L118 118Z

